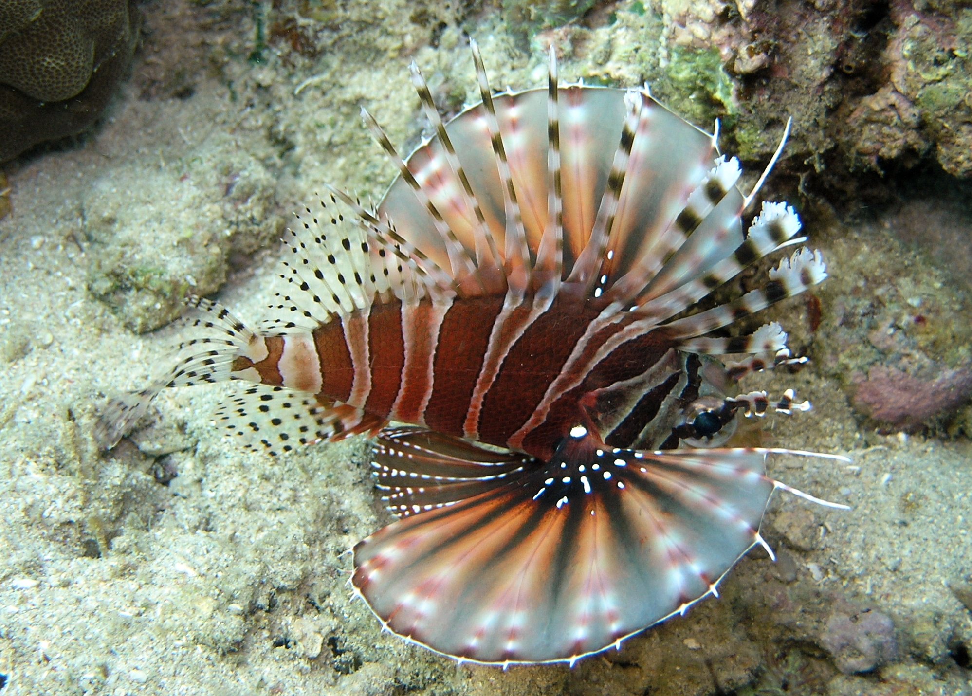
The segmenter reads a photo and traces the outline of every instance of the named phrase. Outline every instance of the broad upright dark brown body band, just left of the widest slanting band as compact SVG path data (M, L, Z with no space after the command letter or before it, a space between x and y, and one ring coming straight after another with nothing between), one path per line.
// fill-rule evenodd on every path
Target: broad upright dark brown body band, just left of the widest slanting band
M426 425L439 433L463 435L476 380L486 359L502 296L457 299L442 321L435 351L432 399Z

